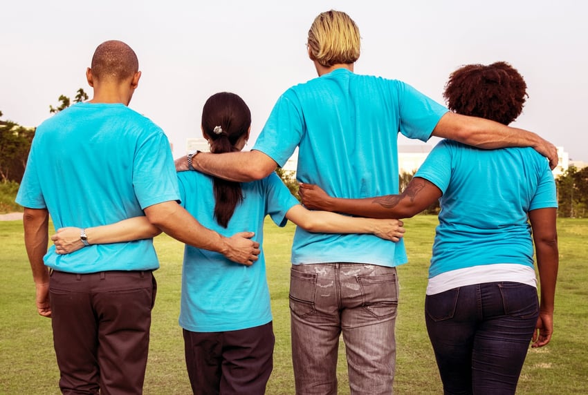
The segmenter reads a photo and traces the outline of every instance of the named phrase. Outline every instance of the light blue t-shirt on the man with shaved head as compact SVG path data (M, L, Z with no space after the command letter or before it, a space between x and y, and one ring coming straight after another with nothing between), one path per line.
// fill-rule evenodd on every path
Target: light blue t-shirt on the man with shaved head
M179 200L163 131L123 104L75 104L35 132L17 203L48 209L55 229L96 227ZM44 262L70 273L157 269L152 240L95 244Z

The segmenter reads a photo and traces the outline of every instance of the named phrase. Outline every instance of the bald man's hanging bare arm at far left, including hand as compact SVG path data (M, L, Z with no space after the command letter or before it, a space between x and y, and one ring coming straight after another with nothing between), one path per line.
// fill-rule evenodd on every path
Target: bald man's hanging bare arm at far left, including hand
M37 311L51 316L49 305L49 269L43 262L49 241L49 212L46 209L24 209L24 245L35 281Z

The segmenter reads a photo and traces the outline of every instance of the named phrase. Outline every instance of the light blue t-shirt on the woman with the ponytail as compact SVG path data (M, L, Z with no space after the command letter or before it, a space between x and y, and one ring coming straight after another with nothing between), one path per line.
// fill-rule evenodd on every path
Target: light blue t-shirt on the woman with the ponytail
M296 204L279 177L272 173L241 184L244 201L225 229L214 220L212 177L196 171L178 173L182 204L209 229L230 237L254 231L252 240L263 244L264 218L270 215L279 227ZM266 262L261 249L251 266L231 262L220 253L186 246L182 271L180 326L194 332L235 331L264 325L272 320Z

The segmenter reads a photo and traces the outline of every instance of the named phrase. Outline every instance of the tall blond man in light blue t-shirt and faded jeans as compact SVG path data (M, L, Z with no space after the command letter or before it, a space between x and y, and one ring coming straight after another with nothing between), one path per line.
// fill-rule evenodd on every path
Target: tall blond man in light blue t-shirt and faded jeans
M299 148L297 179L342 198L398 193L398 133L432 135L481 148L533 146L557 164L553 144L535 133L451 113L403 81L353 72L360 33L344 12L322 12L308 32L318 78L279 97L252 151L196 153L176 160L233 181L266 177ZM403 240L309 233L298 228L290 285L297 394L337 392L339 336L352 394L390 394L398 307L396 266Z

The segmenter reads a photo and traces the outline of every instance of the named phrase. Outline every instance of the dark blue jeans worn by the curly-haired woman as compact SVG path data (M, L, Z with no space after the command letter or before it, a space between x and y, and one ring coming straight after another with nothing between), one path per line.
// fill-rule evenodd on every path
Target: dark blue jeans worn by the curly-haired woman
M486 282L425 298L445 394L514 394L539 315L537 289Z

